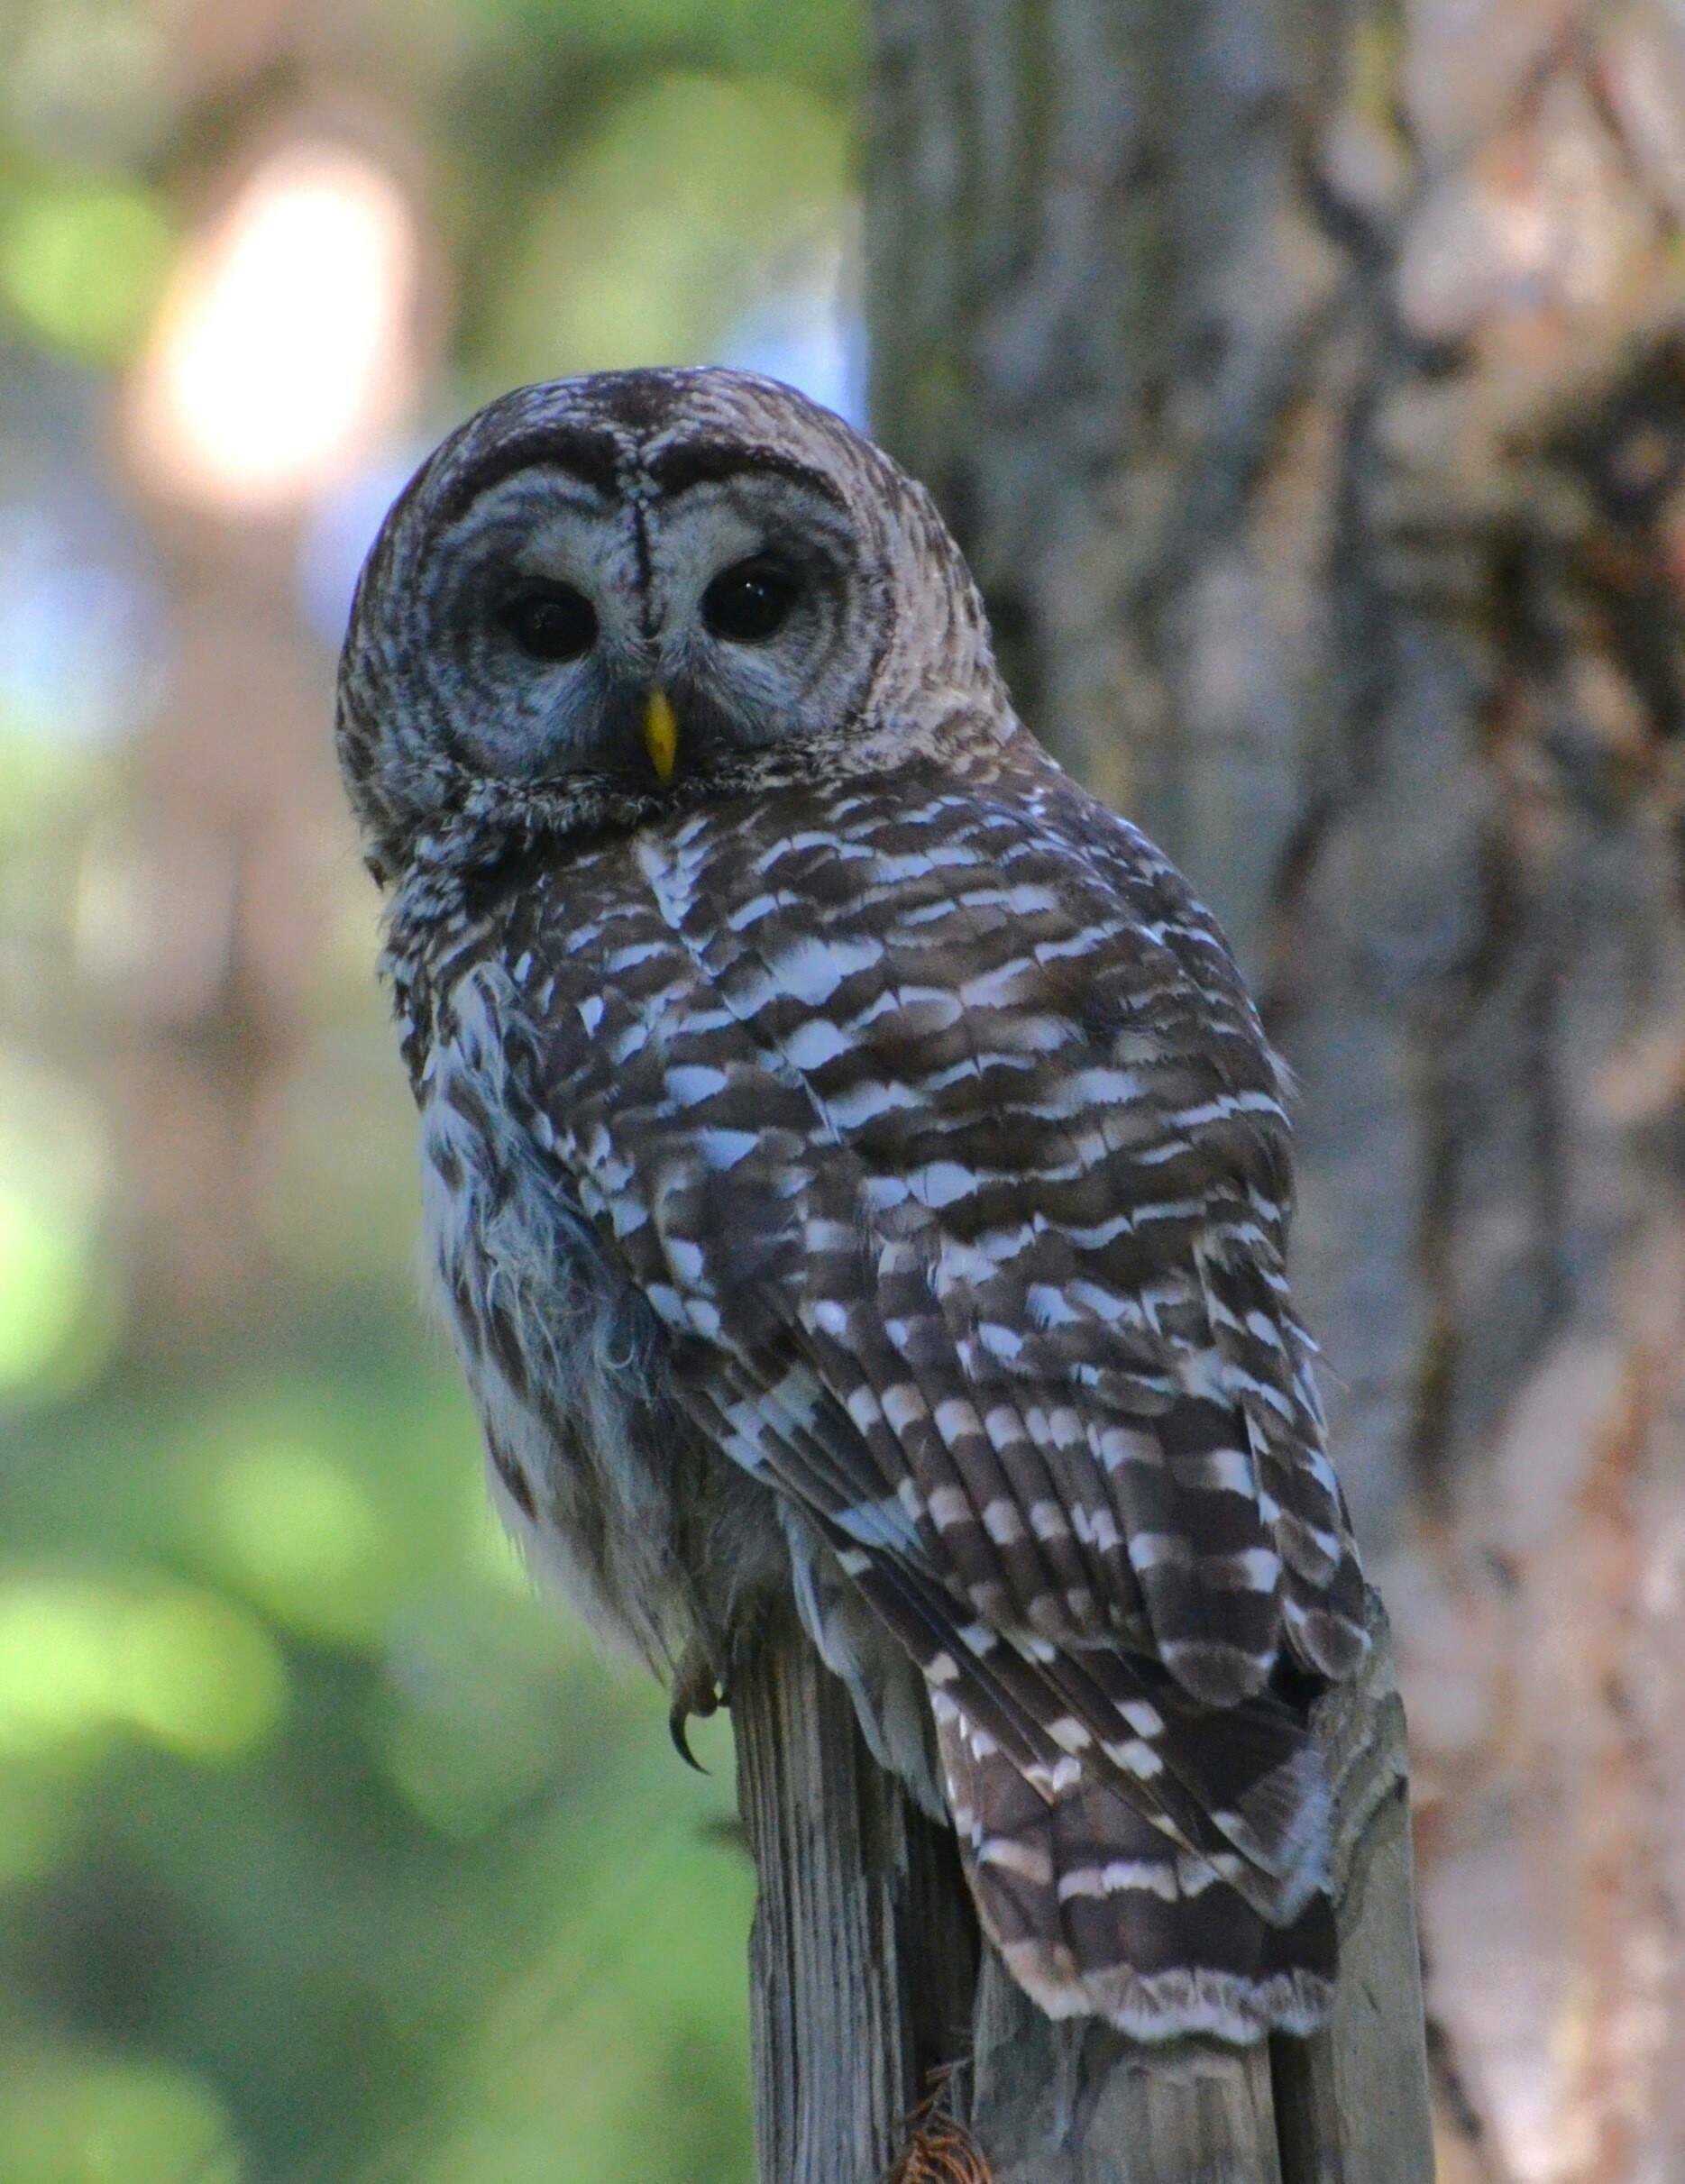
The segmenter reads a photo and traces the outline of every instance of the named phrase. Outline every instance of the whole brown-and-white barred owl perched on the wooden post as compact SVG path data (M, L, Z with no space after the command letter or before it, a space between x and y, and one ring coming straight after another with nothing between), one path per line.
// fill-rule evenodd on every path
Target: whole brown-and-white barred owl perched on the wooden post
M507 395L369 555L339 756L531 1555L680 1714L793 1601L1049 2014L1309 2029L1364 1594L1281 1079L929 496L737 371Z

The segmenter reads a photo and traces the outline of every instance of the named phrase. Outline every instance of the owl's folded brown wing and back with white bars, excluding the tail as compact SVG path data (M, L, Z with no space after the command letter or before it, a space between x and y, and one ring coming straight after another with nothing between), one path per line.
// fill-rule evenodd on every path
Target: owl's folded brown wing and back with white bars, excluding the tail
M796 839L763 858L789 898L623 911L612 981L579 950L555 998L557 1147L702 1378L730 1367L728 1446L857 1546L1206 1704L1283 1640L1342 1675L1362 1581L1257 1020L1191 904L994 821L1023 880L927 850L822 895Z

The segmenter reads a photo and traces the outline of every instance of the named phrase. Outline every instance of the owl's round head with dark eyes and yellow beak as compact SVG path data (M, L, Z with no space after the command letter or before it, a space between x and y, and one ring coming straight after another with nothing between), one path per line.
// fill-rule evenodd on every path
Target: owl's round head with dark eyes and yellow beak
M1005 719L929 494L791 387L715 369L472 417L387 515L339 670L382 878L500 808L638 823Z

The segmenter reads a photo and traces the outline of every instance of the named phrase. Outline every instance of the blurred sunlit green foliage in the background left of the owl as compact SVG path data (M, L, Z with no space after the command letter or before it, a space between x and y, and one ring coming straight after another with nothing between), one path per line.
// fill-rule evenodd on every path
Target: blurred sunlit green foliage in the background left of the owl
M197 13L0 15L0 393L33 391L0 402L0 546L55 435L116 461L98 417L192 186L295 92L188 100ZM850 0L363 0L332 39L448 266L424 432L518 380L715 354L846 242ZM413 1299L350 830L273 1088L271 1273L234 1326L142 1341L74 972L129 745L68 734L4 644L0 618L0 2184L745 2177L730 1736L684 1773L660 1693L483 1509Z

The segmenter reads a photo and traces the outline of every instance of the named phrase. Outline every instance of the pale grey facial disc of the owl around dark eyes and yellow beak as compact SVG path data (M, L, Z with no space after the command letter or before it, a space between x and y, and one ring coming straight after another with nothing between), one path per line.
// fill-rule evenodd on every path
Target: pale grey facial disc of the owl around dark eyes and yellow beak
M452 749L509 780L660 788L846 727L883 644L859 539L822 480L584 480L531 463L452 526Z

